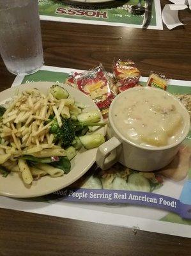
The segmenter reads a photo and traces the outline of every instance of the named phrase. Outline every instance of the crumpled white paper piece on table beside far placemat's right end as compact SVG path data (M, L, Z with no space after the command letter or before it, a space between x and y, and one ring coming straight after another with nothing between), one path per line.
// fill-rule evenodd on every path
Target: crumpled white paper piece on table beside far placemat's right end
M176 2L181 1L177 0ZM191 2L191 0L188 0ZM175 2L175 0L171 1ZM182 1L181 1L182 2ZM185 2L185 0L184 0ZM166 4L162 10L162 20L168 29L183 25L178 17L178 11L188 8L186 4Z

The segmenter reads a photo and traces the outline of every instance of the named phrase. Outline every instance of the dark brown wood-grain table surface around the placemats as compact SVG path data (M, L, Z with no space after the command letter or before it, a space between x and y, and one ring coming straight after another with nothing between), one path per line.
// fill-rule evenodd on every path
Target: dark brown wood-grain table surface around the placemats
M167 1L161 1L164 6ZM113 58L129 58L142 76L151 70L191 80L191 12L186 26L172 31L42 21L45 65L88 69L98 63L111 71ZM1 90L15 76L0 58ZM0 255L190 255L190 239L0 209ZM27 254L26 254L27 251Z

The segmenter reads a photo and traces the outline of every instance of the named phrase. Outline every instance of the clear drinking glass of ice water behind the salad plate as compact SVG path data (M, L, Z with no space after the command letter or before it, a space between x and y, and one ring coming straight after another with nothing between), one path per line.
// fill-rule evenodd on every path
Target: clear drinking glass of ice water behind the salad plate
M42 67L38 0L0 0L0 54L13 74L32 74Z

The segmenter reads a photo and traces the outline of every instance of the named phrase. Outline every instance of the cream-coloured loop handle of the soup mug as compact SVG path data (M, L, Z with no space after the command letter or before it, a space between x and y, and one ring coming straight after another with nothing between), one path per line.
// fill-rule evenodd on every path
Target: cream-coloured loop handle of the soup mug
M108 169L118 161L116 148L118 148L119 145L121 145L121 142L116 137L112 137L98 147L96 163L100 168L103 170Z

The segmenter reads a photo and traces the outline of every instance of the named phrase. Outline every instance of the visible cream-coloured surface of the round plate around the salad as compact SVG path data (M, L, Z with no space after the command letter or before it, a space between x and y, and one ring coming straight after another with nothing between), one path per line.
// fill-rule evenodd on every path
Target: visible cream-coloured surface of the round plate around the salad
M19 90L22 92L27 88L38 88L41 92L47 93L50 86L54 83L50 82L37 82L37 83L27 83L20 86L4 90L0 93L1 104L13 97L15 92ZM63 85L63 87L70 93L71 97L74 97L76 101L82 102L89 109L98 109L96 104L84 93L76 90L70 86ZM98 109L99 110L99 109ZM103 120L103 118L102 118ZM99 129L99 132L105 135L105 128ZM57 191L59 189L69 186L75 180L79 179L84 173L86 173L89 168L95 163L97 148L91 150L85 150L82 148L75 156L72 161L71 171L63 175L62 177L52 178L50 176L42 177L39 180L33 181L33 185L26 186L20 179L18 173L10 173L6 178L0 175L0 195L11 196L17 198L27 198L34 196L42 196Z

